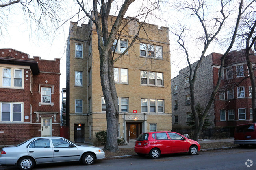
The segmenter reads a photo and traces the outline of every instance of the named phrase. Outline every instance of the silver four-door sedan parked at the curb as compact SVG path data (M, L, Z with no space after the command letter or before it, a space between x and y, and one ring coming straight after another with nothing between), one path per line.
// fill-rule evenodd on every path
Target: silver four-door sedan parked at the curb
M94 146L80 146L63 137L35 137L13 147L4 147L0 164L30 170L36 164L80 161L91 165L105 152Z

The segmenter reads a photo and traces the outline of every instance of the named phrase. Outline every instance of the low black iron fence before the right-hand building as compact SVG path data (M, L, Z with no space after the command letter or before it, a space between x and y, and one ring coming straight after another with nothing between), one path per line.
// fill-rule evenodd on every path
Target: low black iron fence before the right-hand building
M185 137L192 139L195 130L193 129L173 129L173 132L180 133ZM230 138L230 129L229 128L212 128L212 129L202 129L199 140L204 139L227 139Z

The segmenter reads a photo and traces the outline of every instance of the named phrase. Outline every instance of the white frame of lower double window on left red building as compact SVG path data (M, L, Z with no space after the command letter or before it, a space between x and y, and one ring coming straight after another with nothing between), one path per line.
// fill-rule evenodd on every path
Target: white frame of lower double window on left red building
M9 104L9 112L10 112L10 121L2 121L2 113L4 112L2 109L2 104ZM21 111L21 121L13 121L13 106L14 104L20 105L20 111ZM0 102L0 122L24 122L24 103L22 102ZM19 112L20 113L20 112Z

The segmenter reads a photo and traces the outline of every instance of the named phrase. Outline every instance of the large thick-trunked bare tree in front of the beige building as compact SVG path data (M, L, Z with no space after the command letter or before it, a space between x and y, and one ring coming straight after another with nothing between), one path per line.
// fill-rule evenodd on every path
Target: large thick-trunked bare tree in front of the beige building
M86 9L86 1L76 1L80 5L80 8L85 13L85 15L89 17L89 19L96 27L98 50L100 55L100 79L103 96L106 102L107 141L104 150L116 152L118 150L117 130L119 112L117 103L117 92L115 88L113 73L114 63L119 60L119 58L121 58L132 47L133 43L139 35L140 30L143 29L143 22L138 22L136 19L134 19L134 22L138 22L139 25L139 27L136 28L137 33L135 34L135 36L133 36L132 41L129 42L128 48L126 48L126 50L117 57L114 57L115 53L112 53L112 51L115 51L115 49L112 49L114 40L117 37L119 39L122 31L124 31L124 27L127 26L128 23L124 24L122 22L123 17L126 14L126 11L128 10L130 4L132 4L135 0L124 0L121 5L116 4L117 2L113 0L93 0L92 15L90 15L90 12ZM116 6L118 6L117 9L115 8ZM147 8L145 13L140 13L139 15L144 15L146 18L148 13L152 13L152 10L158 8L157 5L154 7L154 5L151 4L150 6L153 7ZM141 7L141 9L144 8ZM114 13L117 13L116 17L110 15L111 10L112 12L116 10L114 11ZM131 20L133 19L131 18ZM112 24L111 27L109 27L109 24Z

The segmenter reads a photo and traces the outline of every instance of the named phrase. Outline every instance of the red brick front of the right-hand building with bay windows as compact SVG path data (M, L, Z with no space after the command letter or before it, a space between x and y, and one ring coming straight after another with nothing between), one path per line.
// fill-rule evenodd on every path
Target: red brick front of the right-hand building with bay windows
M213 55L213 84L217 84L220 54ZM250 51L253 67L254 51ZM254 74L256 71L254 69ZM214 101L215 126L226 127L252 123L252 87L245 58L245 51L231 51L224 61L219 94Z

